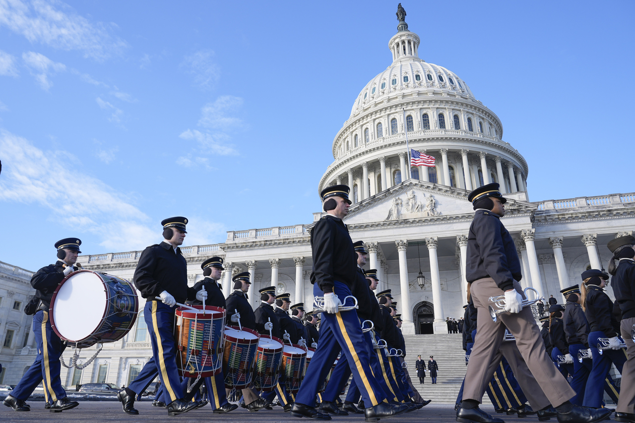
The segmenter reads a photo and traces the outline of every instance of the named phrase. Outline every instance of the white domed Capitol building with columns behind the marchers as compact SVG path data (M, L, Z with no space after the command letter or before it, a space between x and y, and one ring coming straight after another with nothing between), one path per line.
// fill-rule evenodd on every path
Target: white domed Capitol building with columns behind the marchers
M388 42L386 58L392 62L352 99L351 115L333 138L333 162L319 179L316 195L333 184L351 187L353 204L344 222L353 241L366 244L368 268L378 269L381 279L378 290L391 288L404 333L445 333L445 318L462 316L467 233L474 215L467 194L490 182L498 182L509 199L502 222L522 258L521 284L563 302L559 290L579 283L585 269L607 267L611 253L606 243L631 233L635 193L530 201L528 163L504 140L498 116L461 76L420 58L419 46L417 34L399 22ZM411 149L435 158L434 167L408 166L406 137ZM309 231L322 215L313 213L297 225L229 231L220 244L185 246L189 284L203 278L200 265L206 258L220 255L225 259L225 295L231 292L232 275L248 271L254 307L258 289L274 285L278 293L290 293L292 303L304 302L311 309ZM79 262L86 269L131 280L140 254L83 255ZM4 271L0 267L0 277ZM23 288L25 296L32 294ZM7 292L0 285L0 333L5 340L0 359L13 354L22 372L34 358L29 349L33 340L25 335L23 313L4 312L12 304ZM613 295L610 287L608 293ZM22 332L13 334L7 345L6 333L20 325ZM83 351L80 363L94 352L94 347ZM63 372L62 382L128 386L151 355L140 316L124 339L105 344L83 372ZM65 358L69 356L70 351L65 352ZM11 373L4 383L16 383L20 372Z

